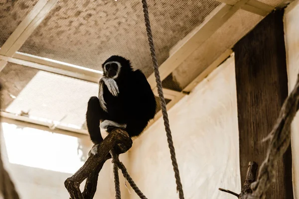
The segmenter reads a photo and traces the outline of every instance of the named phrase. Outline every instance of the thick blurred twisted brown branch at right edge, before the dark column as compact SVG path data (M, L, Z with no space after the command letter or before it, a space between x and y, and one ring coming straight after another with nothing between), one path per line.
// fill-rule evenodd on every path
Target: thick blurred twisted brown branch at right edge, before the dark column
M292 93L285 100L279 118L269 134L271 139L267 157L259 169L257 181L251 184L252 194L245 199L265 199L266 191L274 181L277 161L284 155L291 142L291 123L299 108L299 75Z

